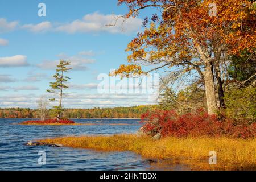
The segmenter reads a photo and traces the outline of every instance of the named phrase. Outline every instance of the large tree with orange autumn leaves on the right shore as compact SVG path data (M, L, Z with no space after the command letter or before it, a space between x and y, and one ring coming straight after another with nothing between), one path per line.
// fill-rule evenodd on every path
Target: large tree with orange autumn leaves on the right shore
M224 106L230 55L255 51L256 15L252 1L119 0L119 4L129 8L126 18L143 16L142 10L150 8L152 15L145 15L144 31L127 47L130 64L121 65L116 75L143 75L166 68L176 80L197 73L204 82L208 113L213 114L217 104ZM155 67L142 71L144 64Z

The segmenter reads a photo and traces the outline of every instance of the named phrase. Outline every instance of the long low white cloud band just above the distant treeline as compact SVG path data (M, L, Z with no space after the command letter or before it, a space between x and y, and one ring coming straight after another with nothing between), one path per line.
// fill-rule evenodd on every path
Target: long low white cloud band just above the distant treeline
M0 95L0 107L30 107L36 108L36 101L40 98L36 94L9 94ZM129 101L129 102L127 102ZM155 104L148 101L145 94L76 94L64 98L64 107L68 108L93 108L117 107ZM51 105L54 105L51 103Z

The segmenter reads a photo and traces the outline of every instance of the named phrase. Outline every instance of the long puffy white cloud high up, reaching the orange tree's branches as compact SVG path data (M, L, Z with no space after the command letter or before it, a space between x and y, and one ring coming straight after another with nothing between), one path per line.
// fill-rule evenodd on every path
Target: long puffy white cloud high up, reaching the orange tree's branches
M123 15L100 14L98 12L86 14L82 19L69 23L42 22L25 24L22 28L32 32L67 32L68 34L109 32L112 34L127 34L141 29L142 19L123 18Z

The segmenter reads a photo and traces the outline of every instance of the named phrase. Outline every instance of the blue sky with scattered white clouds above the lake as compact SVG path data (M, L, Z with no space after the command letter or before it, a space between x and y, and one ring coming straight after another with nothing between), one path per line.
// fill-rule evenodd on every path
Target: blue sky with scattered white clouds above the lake
M46 16L38 15L39 3ZM46 90L60 59L73 68L64 107L154 104L149 92L98 90L98 77L127 63L127 44L143 29L139 16L106 26L126 13L117 0L0 0L0 107L35 108L40 97L52 97Z

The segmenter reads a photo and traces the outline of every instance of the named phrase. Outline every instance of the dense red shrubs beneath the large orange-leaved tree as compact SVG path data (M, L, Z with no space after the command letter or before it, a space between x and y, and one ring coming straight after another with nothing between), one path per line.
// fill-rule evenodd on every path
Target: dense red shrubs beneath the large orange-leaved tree
M143 130L153 136L163 137L221 137L253 138L256 136L256 123L235 125L230 119L220 121L216 115L209 115L203 109L179 115L174 110L155 110L142 114Z

